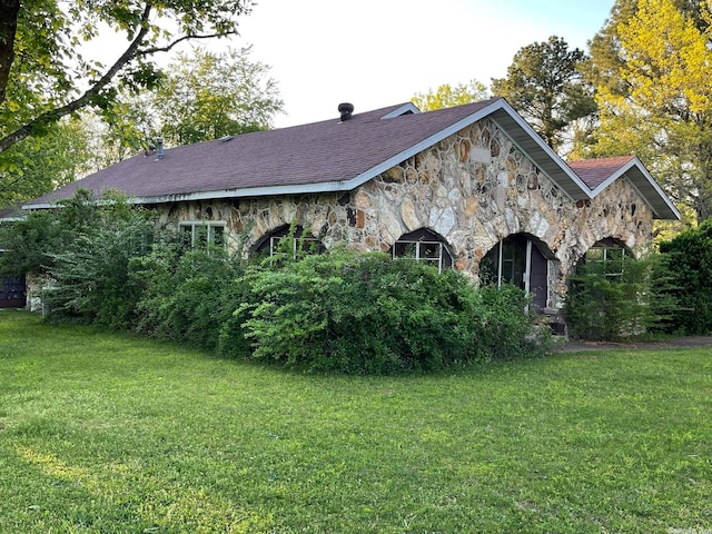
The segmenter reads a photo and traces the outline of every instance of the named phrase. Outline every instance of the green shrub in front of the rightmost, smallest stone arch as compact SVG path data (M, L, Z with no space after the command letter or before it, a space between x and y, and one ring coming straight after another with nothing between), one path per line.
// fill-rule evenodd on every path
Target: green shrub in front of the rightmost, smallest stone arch
M572 337L622 340L666 329L678 304L666 290L661 258L623 258L622 273L589 261L570 276L565 312Z

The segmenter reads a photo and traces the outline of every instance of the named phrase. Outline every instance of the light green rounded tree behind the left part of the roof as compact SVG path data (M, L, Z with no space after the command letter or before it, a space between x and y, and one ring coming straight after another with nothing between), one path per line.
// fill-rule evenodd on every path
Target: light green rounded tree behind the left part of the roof
M267 129L284 107L269 67L249 48L180 53L151 100L167 142L187 145Z

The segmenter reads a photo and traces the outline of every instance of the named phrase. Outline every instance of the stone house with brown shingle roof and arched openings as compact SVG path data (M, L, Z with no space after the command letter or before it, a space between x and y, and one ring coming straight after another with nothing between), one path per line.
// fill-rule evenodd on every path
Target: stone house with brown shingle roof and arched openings
M409 255L514 283L555 315L589 249L635 253L679 212L635 157L566 164L501 98L421 112L402 103L135 156L78 187L126 192L194 238L269 251L290 224L329 249Z

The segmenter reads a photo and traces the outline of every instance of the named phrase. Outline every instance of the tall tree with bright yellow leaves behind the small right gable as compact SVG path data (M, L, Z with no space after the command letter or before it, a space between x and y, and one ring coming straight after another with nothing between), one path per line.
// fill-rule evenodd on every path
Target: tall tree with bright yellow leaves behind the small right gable
M596 150L636 154L703 220L712 216L712 16L705 2L682 3L640 0L619 21L617 70L599 87Z

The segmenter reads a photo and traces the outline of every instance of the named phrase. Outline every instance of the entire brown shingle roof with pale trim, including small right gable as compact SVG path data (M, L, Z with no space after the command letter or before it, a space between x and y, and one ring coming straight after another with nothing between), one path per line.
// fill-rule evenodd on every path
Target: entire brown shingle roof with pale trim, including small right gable
M485 117L570 198L593 198L625 174L656 217L679 217L637 158L566 165L501 98L423 113L406 102L355 113L345 121L335 113L320 122L167 149L162 159L156 152L139 155L24 208L50 207L71 198L78 187L97 197L107 189L120 190L139 204L352 190Z

